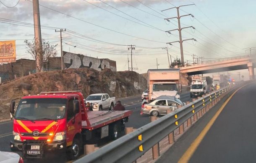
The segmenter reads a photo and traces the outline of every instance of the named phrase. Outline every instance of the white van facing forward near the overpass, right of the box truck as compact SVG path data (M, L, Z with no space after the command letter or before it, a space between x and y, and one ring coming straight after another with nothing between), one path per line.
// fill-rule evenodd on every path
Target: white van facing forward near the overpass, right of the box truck
M206 80L196 80L190 85L190 97L198 97L206 94L208 91Z

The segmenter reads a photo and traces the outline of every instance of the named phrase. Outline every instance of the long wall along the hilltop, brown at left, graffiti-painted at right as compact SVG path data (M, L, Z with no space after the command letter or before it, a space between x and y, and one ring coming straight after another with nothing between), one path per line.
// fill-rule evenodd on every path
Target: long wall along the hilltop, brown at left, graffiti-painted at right
M81 54L74 54L64 52L63 54L65 69L88 67L101 71L104 68L110 68L116 71L116 62L109 59L98 59L84 56ZM44 70L61 70L60 57L52 57L48 63L44 63ZM29 75L29 73L36 73L36 65L34 60L20 59L16 62L0 65L1 82L13 80L15 77L22 77Z

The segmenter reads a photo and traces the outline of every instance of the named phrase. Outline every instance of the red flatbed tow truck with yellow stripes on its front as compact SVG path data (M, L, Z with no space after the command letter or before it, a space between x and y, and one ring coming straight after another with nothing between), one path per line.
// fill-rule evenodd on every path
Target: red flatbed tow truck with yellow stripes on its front
M10 103L14 114L15 101ZM21 98L13 121L11 150L24 158L42 158L47 151L65 151L75 160L84 144L120 137L132 111L89 111L80 91L42 92Z

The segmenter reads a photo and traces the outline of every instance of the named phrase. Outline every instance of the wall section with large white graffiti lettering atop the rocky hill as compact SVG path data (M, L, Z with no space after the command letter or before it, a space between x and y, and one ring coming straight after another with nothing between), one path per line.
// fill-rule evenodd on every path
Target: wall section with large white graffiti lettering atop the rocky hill
M116 71L115 61L106 59L98 59L94 57L88 57L81 54L74 54L70 52L64 52L63 60L65 67L68 68L81 68L88 67L101 71L104 68L109 68L112 71Z

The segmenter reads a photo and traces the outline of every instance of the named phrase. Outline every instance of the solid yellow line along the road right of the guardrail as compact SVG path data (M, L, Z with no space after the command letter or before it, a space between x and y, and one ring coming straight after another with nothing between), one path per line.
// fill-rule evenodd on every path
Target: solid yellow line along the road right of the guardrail
M248 85L248 84L246 84ZM195 153L197 147L201 143L201 141L204 139L205 135L209 131L209 129L212 127L216 119L218 118L219 114L222 112L222 110L225 108L227 103L230 101L230 99L235 95L237 91L239 91L241 88L245 87L246 85L243 85L242 87L238 88L230 97L227 98L227 100L223 103L223 105L219 108L219 110L216 112L216 114L212 117L212 119L206 124L204 129L201 131L201 133L196 137L196 139L192 142L192 144L188 147L186 152L181 156L178 163L188 163L192 155Z

